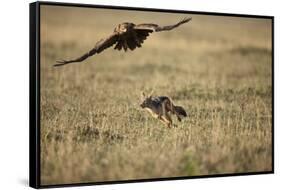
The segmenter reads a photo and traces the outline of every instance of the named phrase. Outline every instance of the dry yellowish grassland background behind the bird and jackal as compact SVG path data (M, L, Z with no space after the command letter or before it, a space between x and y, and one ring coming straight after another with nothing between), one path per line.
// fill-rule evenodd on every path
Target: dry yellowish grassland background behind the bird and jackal
M127 53L79 64L125 21L173 24ZM41 183L272 169L271 20L41 7ZM167 95L188 118L167 128L140 104Z

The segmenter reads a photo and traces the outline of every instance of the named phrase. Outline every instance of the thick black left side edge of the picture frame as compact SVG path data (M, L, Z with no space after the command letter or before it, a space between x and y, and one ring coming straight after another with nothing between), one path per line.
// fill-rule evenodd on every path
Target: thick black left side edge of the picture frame
M40 188L40 3L29 4L29 186Z

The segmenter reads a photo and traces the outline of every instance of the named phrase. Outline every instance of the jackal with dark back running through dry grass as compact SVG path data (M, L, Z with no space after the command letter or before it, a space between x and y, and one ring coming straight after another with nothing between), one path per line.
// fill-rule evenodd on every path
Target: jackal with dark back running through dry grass
M160 119L168 127L173 125L171 114L175 114L179 121L181 117L186 117L186 111L181 106L175 106L167 96L148 96L142 94L143 102L141 108L146 109L154 118Z

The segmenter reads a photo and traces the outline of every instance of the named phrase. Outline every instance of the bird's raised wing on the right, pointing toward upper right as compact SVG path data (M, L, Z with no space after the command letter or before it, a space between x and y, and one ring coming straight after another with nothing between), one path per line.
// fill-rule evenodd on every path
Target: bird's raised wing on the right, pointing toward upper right
M134 27L135 30L150 30L152 32L161 32L161 31L168 31L172 30L184 23L187 23L191 20L192 18L184 18L180 22L174 25L168 25L168 26L158 26L157 24L138 24Z

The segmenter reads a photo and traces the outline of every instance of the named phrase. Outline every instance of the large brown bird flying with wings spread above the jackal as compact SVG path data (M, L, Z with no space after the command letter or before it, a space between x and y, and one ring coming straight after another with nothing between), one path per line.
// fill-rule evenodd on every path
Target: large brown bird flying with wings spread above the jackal
M85 53L81 57L70 60L59 60L58 64L54 66L62 66L69 63L82 62L88 57L101 53L103 50L113 46L116 50L124 49L125 52L127 49L134 50L137 47L141 47L143 41L149 36L152 32L161 32L161 31L169 31L172 30L184 23L187 23L191 20L191 18L184 18L180 22L174 25L168 26L159 26L157 24L138 24L124 22L119 24L113 31L113 34L108 36L107 38L101 39L98 41L93 49L89 52Z

